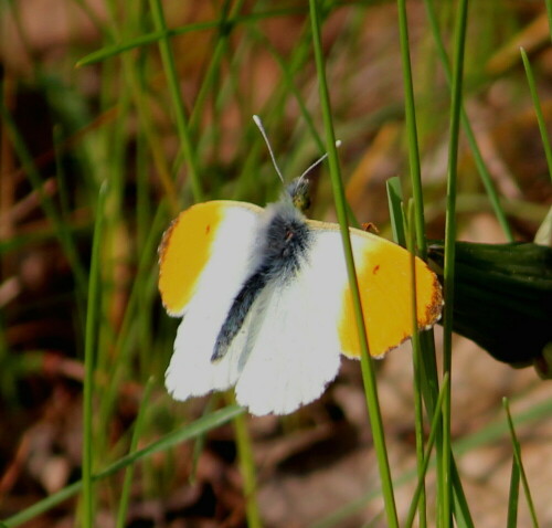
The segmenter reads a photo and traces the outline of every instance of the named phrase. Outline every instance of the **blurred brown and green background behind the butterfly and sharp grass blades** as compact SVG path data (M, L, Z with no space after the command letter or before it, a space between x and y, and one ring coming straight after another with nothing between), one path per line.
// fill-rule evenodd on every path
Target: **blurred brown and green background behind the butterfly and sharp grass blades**
M163 66L159 7L173 30L167 42L174 77ZM347 196L358 221L373 222L389 237L385 181L399 176L410 193L396 4L327 1L323 13ZM450 101L437 41L449 54L456 8L408 1L407 13L427 235L442 239ZM128 452L148 379L152 390L139 446L193 421L205 405L222 404L220 397L176 403L163 388L178 321L166 315L157 293L157 245L171 219L197 200L263 205L278 196L280 182L253 114L263 118L289 179L325 146L308 2L3 0L0 31L4 519L81 477L86 299L102 183L108 187L102 211L94 471ZM550 42L544 2L471 2L465 108L517 241L534 239L552 201L519 47L528 53L550 133ZM506 242L478 163L463 135L459 239ZM333 220L326 168L312 180L311 215ZM415 485L408 347L378 363L391 466L403 482L396 489L402 516ZM520 418L518 434L541 526L552 526L552 465L545 462L552 460L550 382L455 338L453 433L477 526L506 520L511 443L503 395ZM343 360L339 379L319 401L285 419L252 419L248 426L266 526L384 526L357 362ZM232 425L225 425L201 443L140 462L124 526L244 526L233 439ZM97 486L98 526L115 526L123 476ZM24 526L75 526L78 510L74 497ZM529 522L522 499L519 519L519 526Z

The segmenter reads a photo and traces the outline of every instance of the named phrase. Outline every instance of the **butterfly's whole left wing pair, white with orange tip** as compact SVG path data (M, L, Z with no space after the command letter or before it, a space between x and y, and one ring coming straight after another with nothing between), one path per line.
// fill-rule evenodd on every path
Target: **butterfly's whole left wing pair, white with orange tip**
M243 335L212 362L216 336L251 273L253 244L263 209L251 203L210 201L183 211L159 250L159 289L167 311L182 317L166 386L177 400L224 390L235 383Z

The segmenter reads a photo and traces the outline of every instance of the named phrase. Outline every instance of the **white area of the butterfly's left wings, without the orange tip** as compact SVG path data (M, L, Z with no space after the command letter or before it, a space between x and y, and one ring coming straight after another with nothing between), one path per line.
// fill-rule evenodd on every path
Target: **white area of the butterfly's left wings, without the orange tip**
M220 361L212 362L211 356L232 302L256 265L252 260L253 244L262 211L238 204L225 211L195 294L183 309L174 353L166 372L167 389L177 400L227 389L240 376L244 332L236 336Z

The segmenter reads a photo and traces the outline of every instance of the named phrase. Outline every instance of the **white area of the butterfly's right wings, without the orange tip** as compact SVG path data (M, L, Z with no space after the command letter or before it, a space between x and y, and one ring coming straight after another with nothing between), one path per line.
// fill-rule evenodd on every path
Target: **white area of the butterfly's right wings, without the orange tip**
M272 284L253 306L238 403L253 414L288 414L322 393L339 370L346 281L339 234L314 232L299 274Z

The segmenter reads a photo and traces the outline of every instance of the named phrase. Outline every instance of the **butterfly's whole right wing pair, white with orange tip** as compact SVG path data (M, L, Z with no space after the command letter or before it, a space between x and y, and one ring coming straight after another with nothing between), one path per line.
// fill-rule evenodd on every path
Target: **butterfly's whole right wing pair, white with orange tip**
M361 353L341 235L332 224L308 223L314 234L300 271L273 283L252 315L236 400L253 414L287 414L317 399L337 376L340 352ZM370 352L381 357L413 334L411 254L360 230L351 229L351 242ZM415 263L423 329L438 319L443 303L436 276Z

